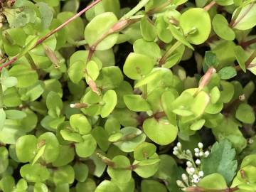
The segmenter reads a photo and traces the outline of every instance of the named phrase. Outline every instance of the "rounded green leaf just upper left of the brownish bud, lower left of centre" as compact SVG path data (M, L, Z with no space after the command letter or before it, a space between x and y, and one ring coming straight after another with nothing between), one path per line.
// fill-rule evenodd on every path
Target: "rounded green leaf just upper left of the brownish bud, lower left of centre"
M86 158L94 153L97 147L97 142L91 134L86 134L82 136L82 139L83 142L75 144L75 151L78 154L78 156Z

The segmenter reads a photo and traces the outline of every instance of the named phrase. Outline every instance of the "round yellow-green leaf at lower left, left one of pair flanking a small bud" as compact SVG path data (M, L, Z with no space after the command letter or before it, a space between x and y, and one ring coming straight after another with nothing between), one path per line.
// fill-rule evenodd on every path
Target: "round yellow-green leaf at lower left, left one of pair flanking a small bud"
M35 136L28 134L18 138L16 142L16 154L21 162L31 161L37 151L37 139Z

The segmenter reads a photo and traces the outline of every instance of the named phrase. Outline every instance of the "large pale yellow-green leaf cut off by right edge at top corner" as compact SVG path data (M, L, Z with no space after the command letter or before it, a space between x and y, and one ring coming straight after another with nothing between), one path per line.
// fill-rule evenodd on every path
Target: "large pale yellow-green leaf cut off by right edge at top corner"
M237 11L240 9L238 7L233 12L232 18L235 16ZM247 30L253 28L256 25L256 4L251 3L243 6L240 13L238 14L235 23L233 24L233 28L238 30Z

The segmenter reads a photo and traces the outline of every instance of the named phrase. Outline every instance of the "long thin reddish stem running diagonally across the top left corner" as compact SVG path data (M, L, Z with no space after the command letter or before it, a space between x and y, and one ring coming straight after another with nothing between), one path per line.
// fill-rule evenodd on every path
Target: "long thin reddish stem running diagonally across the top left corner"
M64 23L62 23L60 26L58 26L57 28L53 29L52 31L50 31L49 33L46 34L46 36L43 36L42 38L40 38L38 41L36 41L35 45L30 49L32 50L33 48L36 48L36 46L38 46L39 44L43 43L43 41L46 41L47 38L49 38L50 36L52 36L54 33L60 31L60 29L64 28L65 26L68 25L68 23L70 23L71 21L74 21L75 18L78 18L79 16L81 16L82 14L84 14L87 10L91 9L92 6L95 6L96 4L100 3L100 1L102 0L96 0L94 2L92 2L92 4L88 5L87 7L85 7L85 9L82 9L82 11L80 11L78 14L75 14L75 16L69 18L67 21L65 21ZM12 58L11 60L9 60L9 62L4 63L4 65L0 66L0 71L3 68L6 68L8 65L11 65L12 63L14 63L16 60L18 59L18 55L15 56L14 58Z

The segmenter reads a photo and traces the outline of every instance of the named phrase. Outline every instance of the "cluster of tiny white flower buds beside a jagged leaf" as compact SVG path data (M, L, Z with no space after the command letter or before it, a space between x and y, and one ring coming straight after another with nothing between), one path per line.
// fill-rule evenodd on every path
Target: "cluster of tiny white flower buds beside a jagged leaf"
M180 142L174 146L174 155L178 157L178 159L186 159L186 174L182 174L181 180L176 181L177 185L181 188L185 188L188 186L196 186L196 184L203 178L203 171L201 171L201 159L204 159L209 156L209 151L203 151L203 144L198 143L198 147L194 149L194 156L196 156L196 161L193 159L192 152L187 149L186 151L182 150L182 145Z

